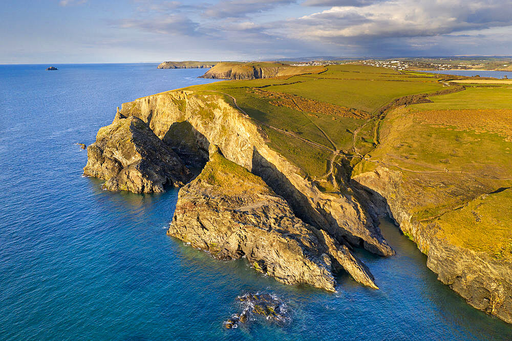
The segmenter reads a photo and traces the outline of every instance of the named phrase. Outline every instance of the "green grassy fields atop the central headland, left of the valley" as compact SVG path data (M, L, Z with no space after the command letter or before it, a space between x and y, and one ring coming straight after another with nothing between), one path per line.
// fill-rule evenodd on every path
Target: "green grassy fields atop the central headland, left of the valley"
M254 120L324 145L333 152L344 151L348 156L352 156L354 142L358 151L364 153L374 147L376 117L372 113L401 96L442 90L443 86L438 82L439 79L431 75L407 75L383 68L332 65L321 73L254 80L227 80L184 90L216 92L219 95L234 97L239 108ZM279 106L271 98L251 92L254 88L271 93L298 95L303 101L314 100L358 110L367 113L367 118L336 116L330 115L329 112L312 113L289 106ZM227 100L232 102L232 99ZM354 139L354 132L358 130ZM313 177L326 173L326 162L333 154L276 130L266 128L266 131L270 137L270 145L288 159L296 161L305 173Z

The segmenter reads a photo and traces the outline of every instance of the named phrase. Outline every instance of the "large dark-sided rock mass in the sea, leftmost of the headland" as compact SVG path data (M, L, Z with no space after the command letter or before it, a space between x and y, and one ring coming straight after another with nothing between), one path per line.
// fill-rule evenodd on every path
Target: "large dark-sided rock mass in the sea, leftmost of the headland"
M83 174L105 179L104 188L134 193L182 186L191 173L181 159L139 118L116 116L87 148Z

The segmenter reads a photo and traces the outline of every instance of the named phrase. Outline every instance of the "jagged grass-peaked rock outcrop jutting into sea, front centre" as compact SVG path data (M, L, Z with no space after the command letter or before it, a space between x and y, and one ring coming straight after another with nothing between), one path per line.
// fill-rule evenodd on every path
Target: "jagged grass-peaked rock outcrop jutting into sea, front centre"
M202 173L180 189L168 235L218 259L246 257L251 266L285 284L334 291L333 268L377 288L346 246L296 218L288 203L258 176L210 145Z

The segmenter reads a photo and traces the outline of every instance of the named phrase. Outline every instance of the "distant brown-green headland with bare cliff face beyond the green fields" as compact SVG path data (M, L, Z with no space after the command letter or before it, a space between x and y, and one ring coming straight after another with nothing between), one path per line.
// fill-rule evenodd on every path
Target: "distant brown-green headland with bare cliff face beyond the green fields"
M323 70L323 67L297 67L278 62L220 62L201 78L259 79L318 73Z

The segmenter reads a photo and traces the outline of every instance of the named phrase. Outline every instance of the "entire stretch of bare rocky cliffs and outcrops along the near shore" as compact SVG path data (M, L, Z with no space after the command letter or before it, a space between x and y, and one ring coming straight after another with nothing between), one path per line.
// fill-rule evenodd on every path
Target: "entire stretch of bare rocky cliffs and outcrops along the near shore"
M356 195L323 193L267 141L221 96L172 91L124 103L88 147L84 174L107 180L111 190L181 187L169 235L219 259L246 257L280 282L328 291L340 269L377 288L351 249L394 254L375 224L389 215L429 255L439 280L477 309L512 322L510 265L435 239L435 226L407 211L415 198L400 191L399 174L377 168L352 179Z

